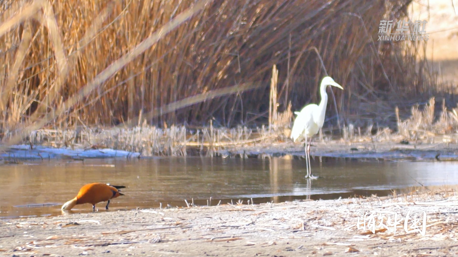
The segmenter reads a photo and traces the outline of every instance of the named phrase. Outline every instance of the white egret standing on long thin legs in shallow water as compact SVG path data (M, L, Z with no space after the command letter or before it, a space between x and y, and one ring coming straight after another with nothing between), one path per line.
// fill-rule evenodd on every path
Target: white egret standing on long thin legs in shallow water
M323 127L327 105L327 86L335 86L342 90L344 89L342 86L337 84L333 78L329 76L324 77L320 85L320 105L312 103L305 106L300 112L294 112L297 117L294 120L293 129L291 129L291 139L293 139L294 142L297 142L305 138L305 161L307 162L306 178L317 178L311 174L310 143L312 136L318 133L318 130ZM307 138L310 138L310 143L308 145Z

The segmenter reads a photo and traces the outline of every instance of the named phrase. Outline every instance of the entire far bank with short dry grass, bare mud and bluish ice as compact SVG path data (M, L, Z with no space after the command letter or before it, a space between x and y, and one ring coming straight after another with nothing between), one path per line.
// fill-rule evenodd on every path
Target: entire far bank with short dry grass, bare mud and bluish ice
M313 138L311 156L371 158L385 160L458 160L458 108L448 111L445 102L435 118L435 98L422 110L412 107L411 116L401 119L395 108L397 131L373 124L341 129L323 129ZM146 122L135 127L75 127L39 129L10 146L5 159L104 158L152 156L221 156L265 158L304 156L301 143L294 144L292 112L278 113L278 122L261 127L235 128L170 126L158 128ZM390 116L392 116L390 114ZM15 134L5 134L8 142ZM10 160L8 160L10 161Z

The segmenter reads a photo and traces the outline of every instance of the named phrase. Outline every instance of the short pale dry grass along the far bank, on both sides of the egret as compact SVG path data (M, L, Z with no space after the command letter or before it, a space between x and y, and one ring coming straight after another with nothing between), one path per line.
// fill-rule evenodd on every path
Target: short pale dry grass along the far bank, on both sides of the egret
M274 83L272 86L275 88ZM271 94L275 95L275 91L272 91ZM397 107L395 113L398 120L398 131L388 127L374 128L373 126L364 129L350 123L343 126L340 137L334 137L332 129L324 129L320 139L315 140L344 145L371 142L373 150L376 149L378 143L383 142L388 142L394 147L401 141L412 141L413 145L404 146L405 149L415 149L416 146L424 143L429 144L418 146L419 149L435 147L437 143L458 144L458 108L448 111L445 101L442 102L442 110L435 110L435 98L431 98L422 109L418 105L412 107L411 116L404 120L399 117ZM240 158L262 157L252 152L253 149L259 147L269 148L267 152L271 154L290 152L294 145L284 144L284 142L290 142L289 128L292 116L290 106L284 112L271 112L270 115L272 117L271 126L262 125L254 129L240 125L232 129L218 128L213 126L213 120L210 121L209 127L198 129L189 129L185 126L161 129L150 126L146 122L132 128L76 126L74 129L39 129L28 134L24 143L32 146L70 147L72 149L112 148L139 152L142 156L186 156L191 154L213 157L223 154ZM12 136L14 133L4 135L6 139Z

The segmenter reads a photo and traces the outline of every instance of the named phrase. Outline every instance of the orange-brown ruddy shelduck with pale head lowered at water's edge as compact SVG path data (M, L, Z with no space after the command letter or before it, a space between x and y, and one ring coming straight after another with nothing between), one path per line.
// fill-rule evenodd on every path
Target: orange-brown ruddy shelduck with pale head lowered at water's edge
M120 193L120 188L125 188L125 186L112 186L104 183L91 183L84 185L81 187L80 192L78 192L78 195L76 195L75 198L62 205L61 210L69 211L71 208L75 207L76 204L91 203L92 210L95 211L95 204L105 201L108 201L107 206L105 206L105 209L108 210L110 199L124 195Z

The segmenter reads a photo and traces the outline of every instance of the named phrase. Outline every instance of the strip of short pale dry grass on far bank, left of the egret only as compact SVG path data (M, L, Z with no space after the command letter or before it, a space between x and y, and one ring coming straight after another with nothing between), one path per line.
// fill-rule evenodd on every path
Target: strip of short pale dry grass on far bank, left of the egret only
M130 129L78 128L76 130L39 129L30 133L30 145L77 149L111 148L139 152L142 156L215 156L226 147L243 148L286 140L287 135L272 133L265 127L237 126L233 129L209 128L190 130L184 126L160 129L143 124ZM246 157L246 156L240 156Z

